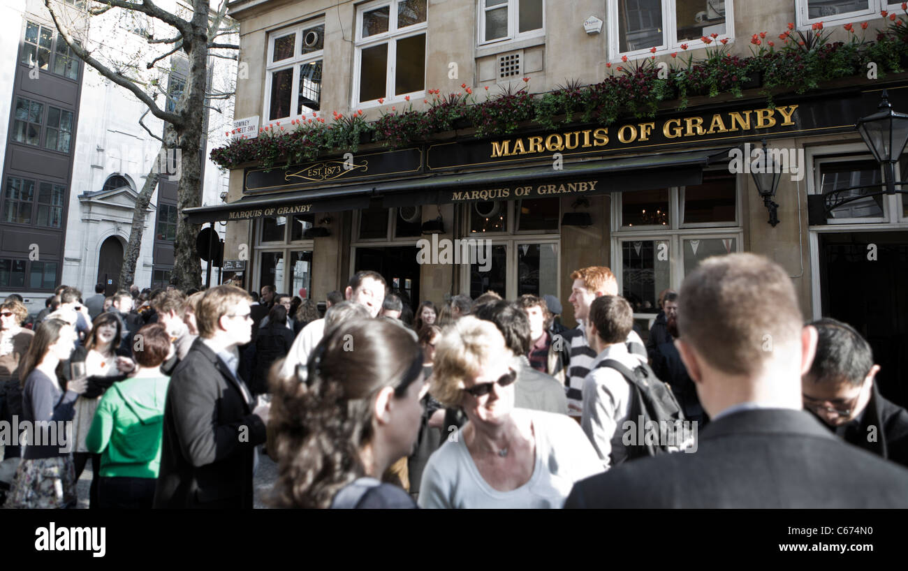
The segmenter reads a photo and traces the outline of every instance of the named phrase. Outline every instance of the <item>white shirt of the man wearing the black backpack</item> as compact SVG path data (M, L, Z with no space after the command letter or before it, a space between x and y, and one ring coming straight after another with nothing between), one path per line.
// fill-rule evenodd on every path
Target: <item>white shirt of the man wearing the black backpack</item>
M627 350L625 343L610 345L593 359L583 379L580 428L596 448L603 467L608 469L627 458L621 426L630 414L631 391L624 375L610 367L598 367L606 359L615 359L628 369L635 369L640 359Z

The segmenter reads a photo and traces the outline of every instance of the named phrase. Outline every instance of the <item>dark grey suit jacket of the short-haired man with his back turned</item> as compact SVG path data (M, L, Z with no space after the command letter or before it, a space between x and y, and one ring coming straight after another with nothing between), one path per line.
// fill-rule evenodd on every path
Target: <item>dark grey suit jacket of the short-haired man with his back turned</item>
M908 507L908 470L845 444L803 410L732 413L697 445L588 477L565 507Z

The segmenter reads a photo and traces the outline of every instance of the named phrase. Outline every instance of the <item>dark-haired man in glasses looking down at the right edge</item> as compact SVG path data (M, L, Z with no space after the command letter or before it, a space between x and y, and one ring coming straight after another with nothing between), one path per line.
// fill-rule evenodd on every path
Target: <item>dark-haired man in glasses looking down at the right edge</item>
M880 366L870 344L847 323L811 323L816 357L802 378L804 409L845 442L908 466L908 411L893 404L873 382Z

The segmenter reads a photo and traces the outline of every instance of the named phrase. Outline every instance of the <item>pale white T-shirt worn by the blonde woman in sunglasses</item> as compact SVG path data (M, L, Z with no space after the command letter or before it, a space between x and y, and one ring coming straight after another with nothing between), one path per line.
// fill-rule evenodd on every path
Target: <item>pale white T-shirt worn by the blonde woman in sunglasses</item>
M526 484L509 492L489 486L460 436L429 458L419 487L419 507L559 509L575 482L602 471L596 451L575 420L541 410L514 409L513 414L529 416L536 439L536 464Z

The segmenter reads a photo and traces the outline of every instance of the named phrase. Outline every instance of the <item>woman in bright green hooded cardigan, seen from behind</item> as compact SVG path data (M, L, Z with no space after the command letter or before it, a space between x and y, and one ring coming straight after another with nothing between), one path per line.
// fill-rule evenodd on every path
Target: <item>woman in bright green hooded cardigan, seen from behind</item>
M133 376L114 385L94 413L85 437L89 450L100 453L101 480L98 507L150 509L161 465L164 400L170 378L161 363L173 351L167 330L160 323L144 326L137 334Z

